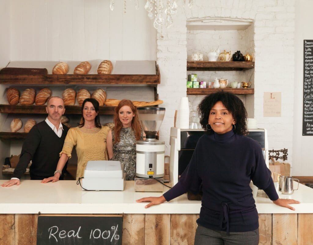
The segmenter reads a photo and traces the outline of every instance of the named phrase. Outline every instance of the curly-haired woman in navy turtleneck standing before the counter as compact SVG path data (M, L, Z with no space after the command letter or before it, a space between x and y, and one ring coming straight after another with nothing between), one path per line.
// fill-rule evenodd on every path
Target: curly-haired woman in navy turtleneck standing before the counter
M161 197L145 197L150 207L170 201L202 186L202 207L197 220L195 244L259 243L259 217L249 183L263 189L281 207L299 203L280 199L259 143L247 132L247 112L234 94L218 92L206 96L198 106L200 123L207 131L196 146L178 183Z

